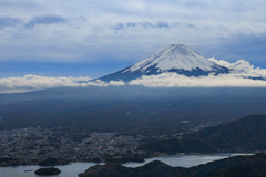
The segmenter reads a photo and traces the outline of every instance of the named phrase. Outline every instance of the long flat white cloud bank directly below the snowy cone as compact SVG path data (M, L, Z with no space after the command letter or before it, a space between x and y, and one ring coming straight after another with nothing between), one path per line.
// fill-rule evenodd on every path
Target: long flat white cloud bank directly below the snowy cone
M237 75L221 74L208 76L184 76L176 73L142 76L133 80L130 85L147 87L227 87L227 86L266 86L266 81L245 79Z

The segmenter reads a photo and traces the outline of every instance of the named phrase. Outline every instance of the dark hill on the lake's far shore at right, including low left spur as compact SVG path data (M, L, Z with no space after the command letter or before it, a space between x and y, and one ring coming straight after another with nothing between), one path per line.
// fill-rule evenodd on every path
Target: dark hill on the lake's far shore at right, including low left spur
M246 152L266 148L266 115L247 117L184 134L181 139L146 140L141 150L163 153Z

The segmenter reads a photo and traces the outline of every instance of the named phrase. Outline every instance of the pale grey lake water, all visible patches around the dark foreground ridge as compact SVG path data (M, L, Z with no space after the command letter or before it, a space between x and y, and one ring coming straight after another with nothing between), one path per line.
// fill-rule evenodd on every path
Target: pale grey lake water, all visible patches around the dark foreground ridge
M124 166L126 167L139 167L146 163L153 160L161 160L165 164L168 164L173 167L192 167L200 164L205 164L208 162L227 158L237 155L253 155L253 154L213 154L213 155L171 155L171 156L162 156L162 157L153 157L145 159L144 163L126 163ZM62 173L59 175L54 175L53 177L78 177L78 174L85 171L89 167L96 165L95 163L73 163L71 165L65 166L55 166ZM0 168L0 177L40 177L34 174L39 166L19 166L19 167L1 167ZM31 171L25 171L31 170ZM49 177L49 176L42 176Z

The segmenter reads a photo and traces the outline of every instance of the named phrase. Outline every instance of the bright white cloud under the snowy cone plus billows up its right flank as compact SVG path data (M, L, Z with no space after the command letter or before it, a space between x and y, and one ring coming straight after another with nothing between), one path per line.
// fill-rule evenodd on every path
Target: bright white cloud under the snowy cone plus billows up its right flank
M130 85L143 85L147 87L217 87L217 86L266 86L266 70L254 69L249 62L239 60L235 63L209 59L219 65L232 70L228 74L207 76L185 76L176 73L163 73L160 75L142 76L129 82ZM264 80L253 80L264 79Z

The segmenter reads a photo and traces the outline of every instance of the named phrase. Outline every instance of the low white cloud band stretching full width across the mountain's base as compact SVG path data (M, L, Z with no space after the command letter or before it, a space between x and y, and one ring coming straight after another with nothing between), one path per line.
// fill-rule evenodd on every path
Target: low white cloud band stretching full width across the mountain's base
M229 74L207 76L185 76L176 73L162 73L160 75L143 75L127 83L111 81L109 83L90 77L47 77L25 75L23 77L0 79L0 93L19 93L44 90L61 86L124 86L142 85L146 87L217 87L217 86L266 86L266 70L254 67L249 62L239 60L229 63L223 60L209 59L211 61L232 70Z

